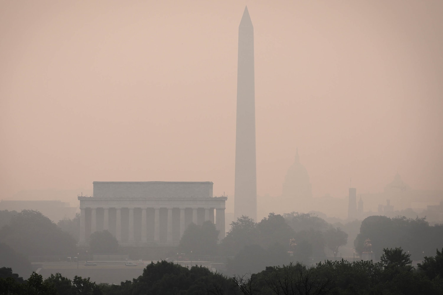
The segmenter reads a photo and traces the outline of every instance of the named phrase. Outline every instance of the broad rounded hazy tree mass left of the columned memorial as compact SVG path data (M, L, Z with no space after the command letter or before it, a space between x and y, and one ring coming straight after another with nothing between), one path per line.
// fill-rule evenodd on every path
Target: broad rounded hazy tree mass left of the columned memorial
M0 229L0 242L24 255L75 253L75 239L39 211L23 210Z

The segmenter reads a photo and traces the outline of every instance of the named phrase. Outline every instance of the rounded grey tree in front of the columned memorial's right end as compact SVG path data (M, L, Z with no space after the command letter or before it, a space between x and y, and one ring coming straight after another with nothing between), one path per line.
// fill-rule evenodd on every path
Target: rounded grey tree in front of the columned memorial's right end
M205 221L201 226L190 223L180 239L181 252L197 255L215 255L217 253L218 230L214 223Z

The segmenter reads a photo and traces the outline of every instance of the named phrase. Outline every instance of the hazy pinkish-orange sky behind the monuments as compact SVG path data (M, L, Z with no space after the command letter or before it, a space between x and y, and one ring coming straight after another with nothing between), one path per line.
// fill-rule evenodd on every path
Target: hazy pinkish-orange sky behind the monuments
M233 195L245 4L259 195L281 194L296 147L317 197L397 171L443 189L441 0L0 1L0 198L114 180Z

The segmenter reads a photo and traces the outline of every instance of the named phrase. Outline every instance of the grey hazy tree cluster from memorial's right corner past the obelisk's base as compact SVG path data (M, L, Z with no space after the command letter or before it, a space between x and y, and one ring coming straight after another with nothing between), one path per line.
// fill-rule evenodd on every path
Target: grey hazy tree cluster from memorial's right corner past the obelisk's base
M185 230L179 251L197 255L234 257L228 261L228 275L259 272L267 265L307 262L308 257L325 257L325 247L333 252L346 245L348 235L322 218L310 214L277 215L255 222L242 216L231 223L226 237L217 244L218 231L211 222L191 224ZM290 248L290 239L295 245ZM293 256L288 255L288 251Z

